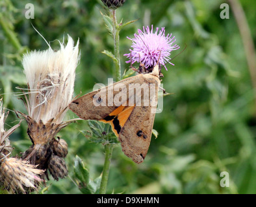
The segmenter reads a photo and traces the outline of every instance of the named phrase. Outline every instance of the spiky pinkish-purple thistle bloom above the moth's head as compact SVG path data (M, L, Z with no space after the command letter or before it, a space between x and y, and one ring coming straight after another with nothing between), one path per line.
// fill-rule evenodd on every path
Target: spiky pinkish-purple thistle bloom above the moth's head
M133 41L133 45L131 45L133 50L130 49L130 53L124 54L130 59L126 63L143 63L148 69L154 67L159 60L160 65L164 65L166 69L165 64L171 60L169 58L170 52L179 49L179 45L172 45L176 41L175 36L172 37L172 34L165 36L164 32L164 27L161 30L157 27L153 33L153 25L151 25L151 30L148 26L146 29L143 27L143 32L138 29L138 34L134 34L133 39L127 37ZM173 63L170 64L174 65Z

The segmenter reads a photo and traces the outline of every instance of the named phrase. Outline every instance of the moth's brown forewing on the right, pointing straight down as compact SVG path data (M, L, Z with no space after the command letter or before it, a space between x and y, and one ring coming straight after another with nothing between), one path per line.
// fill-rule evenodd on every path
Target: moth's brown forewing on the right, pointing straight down
M136 103L119 133L123 153L138 164L144 161L149 149L160 84L154 76L144 75L144 78L146 83L155 85L149 90L150 93L142 93L141 104Z

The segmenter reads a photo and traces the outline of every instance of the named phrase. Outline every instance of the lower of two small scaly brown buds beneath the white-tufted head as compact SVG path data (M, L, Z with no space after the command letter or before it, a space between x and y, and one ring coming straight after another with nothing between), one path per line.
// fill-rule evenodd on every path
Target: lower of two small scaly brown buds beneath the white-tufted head
M48 169L55 180L63 179L68 175L68 169L64 159L57 155L51 155L48 161Z

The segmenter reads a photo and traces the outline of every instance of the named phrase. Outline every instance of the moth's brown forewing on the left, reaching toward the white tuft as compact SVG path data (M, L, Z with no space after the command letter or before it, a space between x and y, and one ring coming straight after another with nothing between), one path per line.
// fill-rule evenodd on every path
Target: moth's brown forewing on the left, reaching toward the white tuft
M133 76L112 85L108 85L107 87L103 87L97 91L85 94L84 96L73 100L70 103L69 108L73 113L84 120L102 120L122 105L123 102L113 101L114 97L118 97L116 94L122 94L123 97L126 97L123 101L127 101L129 96L129 83L134 82L140 83L143 82L143 79L140 78L140 76ZM120 93L120 91L122 91L122 93Z

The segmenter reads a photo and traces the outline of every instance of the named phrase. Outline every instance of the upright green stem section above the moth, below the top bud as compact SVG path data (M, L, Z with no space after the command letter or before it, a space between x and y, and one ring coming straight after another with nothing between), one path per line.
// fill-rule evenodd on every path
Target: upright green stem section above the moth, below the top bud
M113 23L113 38L114 38L114 56L116 58L115 66L116 66L116 81L120 81L121 77L121 63L120 63L120 51L119 51L119 32L120 28L118 26L118 22L116 19L116 10L110 10L110 17Z

